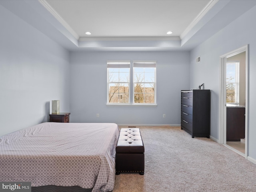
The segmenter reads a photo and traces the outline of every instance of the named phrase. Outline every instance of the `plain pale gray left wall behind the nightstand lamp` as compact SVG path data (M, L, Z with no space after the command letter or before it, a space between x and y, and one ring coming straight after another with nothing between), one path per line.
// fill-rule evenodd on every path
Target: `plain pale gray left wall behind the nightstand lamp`
M6 19L8 18L8 19ZM69 52L0 6L0 136L69 111Z

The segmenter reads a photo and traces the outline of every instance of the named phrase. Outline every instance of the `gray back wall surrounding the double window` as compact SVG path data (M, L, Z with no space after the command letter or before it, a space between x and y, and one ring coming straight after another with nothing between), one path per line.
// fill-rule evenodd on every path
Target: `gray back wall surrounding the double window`
M180 124L180 90L189 88L189 57L189 52L72 52L70 122ZM156 60L157 106L106 106L107 60Z

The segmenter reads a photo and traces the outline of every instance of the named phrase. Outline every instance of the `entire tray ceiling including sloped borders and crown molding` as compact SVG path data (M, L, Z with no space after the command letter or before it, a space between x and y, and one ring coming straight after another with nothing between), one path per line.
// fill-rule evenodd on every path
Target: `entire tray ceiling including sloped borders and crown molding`
M0 0L0 5L70 51L190 51L256 0Z

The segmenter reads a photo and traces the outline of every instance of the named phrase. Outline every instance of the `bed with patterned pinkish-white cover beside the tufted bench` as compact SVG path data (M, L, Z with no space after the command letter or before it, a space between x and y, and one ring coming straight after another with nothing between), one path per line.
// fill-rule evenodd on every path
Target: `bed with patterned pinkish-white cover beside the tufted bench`
M113 123L55 122L4 135L0 181L112 191L118 135Z

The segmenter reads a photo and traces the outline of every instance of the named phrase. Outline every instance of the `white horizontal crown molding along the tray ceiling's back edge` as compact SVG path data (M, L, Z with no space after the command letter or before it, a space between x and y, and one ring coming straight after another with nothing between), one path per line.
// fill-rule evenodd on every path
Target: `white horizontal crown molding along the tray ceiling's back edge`
M80 37L79 41L180 41L180 37Z

